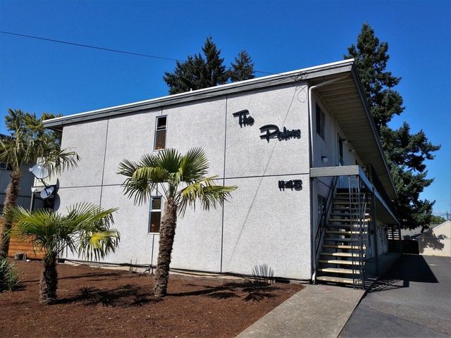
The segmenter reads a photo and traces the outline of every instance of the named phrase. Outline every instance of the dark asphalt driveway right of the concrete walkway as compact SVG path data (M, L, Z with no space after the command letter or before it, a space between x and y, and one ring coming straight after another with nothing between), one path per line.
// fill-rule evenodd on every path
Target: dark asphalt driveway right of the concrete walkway
M451 337L451 258L401 256L340 337Z

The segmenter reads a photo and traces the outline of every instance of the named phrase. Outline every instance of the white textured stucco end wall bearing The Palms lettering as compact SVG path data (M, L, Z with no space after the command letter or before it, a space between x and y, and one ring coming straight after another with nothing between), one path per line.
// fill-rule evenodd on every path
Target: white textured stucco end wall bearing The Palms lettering
M255 122L240 127L233 113L244 109ZM171 267L250 274L254 265L267 264L276 276L308 280L309 129L302 83L65 126L63 147L77 151L81 161L61 175L56 208L81 201L118 207L114 218L121 243L105 261L156 264L159 235L148 233L149 203L137 206L124 196L124 177L116 172L124 158L154 152L159 115L167 116L166 148L185 153L202 147L209 175L238 187L223 208L191 209L178 218ZM301 137L267 142L259 127L268 124L300 129ZM280 191L279 180L302 180L302 190Z

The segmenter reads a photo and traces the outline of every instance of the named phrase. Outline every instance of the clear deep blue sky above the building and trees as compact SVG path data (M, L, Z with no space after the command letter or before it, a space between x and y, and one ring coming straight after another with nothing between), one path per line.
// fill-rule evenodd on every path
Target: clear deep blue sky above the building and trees
M362 23L388 42L388 69L402 76L406 110L392 126L407 120L442 145L422 197L450 211L451 1L0 1L0 30L178 59L211 35L227 64L245 49L271 73L342 60ZM163 96L174 65L0 34L0 114L68 115Z

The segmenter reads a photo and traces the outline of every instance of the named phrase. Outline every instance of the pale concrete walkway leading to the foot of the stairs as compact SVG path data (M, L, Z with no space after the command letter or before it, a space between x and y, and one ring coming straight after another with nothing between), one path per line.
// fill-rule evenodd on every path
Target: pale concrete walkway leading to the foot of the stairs
M237 338L337 338L363 295L361 289L308 285Z

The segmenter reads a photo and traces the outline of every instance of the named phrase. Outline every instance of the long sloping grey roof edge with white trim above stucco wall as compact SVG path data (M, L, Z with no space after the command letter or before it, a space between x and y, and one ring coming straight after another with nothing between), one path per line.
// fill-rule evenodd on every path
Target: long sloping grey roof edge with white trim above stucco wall
M216 87L198 89L192 92L162 96L156 99L138 101L133 102L131 104L124 104L121 106L113 106L108 108L97 109L95 111L87 111L84 113L61 116L59 118L45 120L44 127L61 131L64 125L86 122L88 120L109 118L110 116L136 113L138 111L149 110L152 108L158 108L162 106L181 104L189 101L197 101L202 99L209 99L215 96L233 94L236 92L271 87L277 84L299 82L309 80L314 77L345 73L351 70L353 64L354 59L348 59L334 63L327 63L324 65L317 65L310 68L292 70L287 73L268 75L265 77L257 77L251 80L233 82L228 84L222 84Z

